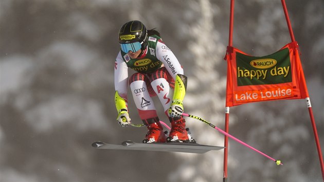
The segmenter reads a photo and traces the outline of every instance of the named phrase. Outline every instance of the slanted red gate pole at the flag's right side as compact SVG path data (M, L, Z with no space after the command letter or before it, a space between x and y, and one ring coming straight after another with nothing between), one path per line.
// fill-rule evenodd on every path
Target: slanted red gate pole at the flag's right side
M281 0L281 4L282 4L282 7L283 7L284 15L286 17L286 22L287 22L287 25L288 25L290 37L292 39L292 42L295 42L294 32L293 32L293 28L292 28L291 23L290 23L290 20L289 20L289 15L288 15L286 3L285 3L284 0ZM307 88L306 85L304 87ZM323 181L324 181L324 163L323 163L323 156L322 156L322 152L321 152L321 149L320 149L320 143L319 143L319 139L318 139L318 135L317 135L317 129L316 129L316 124L315 124L315 119L314 119L312 105L311 105L311 101L310 101L310 98L309 97L306 98L306 102L307 102L308 111L309 111L310 118L311 118L311 122L312 122L312 127L313 127L313 132L314 132L316 147L317 147L317 153L318 153L320 168L321 168L321 172L322 172L322 178L323 178Z

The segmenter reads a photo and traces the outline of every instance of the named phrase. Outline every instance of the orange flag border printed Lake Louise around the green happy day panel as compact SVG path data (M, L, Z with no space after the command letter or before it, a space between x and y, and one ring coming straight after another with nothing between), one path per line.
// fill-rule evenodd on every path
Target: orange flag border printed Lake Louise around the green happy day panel
M236 106L244 103L282 100L282 99L303 99L307 98L308 91L304 79L304 74L299 57L299 49L297 42L291 42L280 50L289 48L290 70L292 74L292 81L287 83L277 84L260 84L260 85L244 85L238 86L237 81L237 63L236 53L242 53L250 56L243 51L235 48L227 48L227 85L226 85L226 106ZM279 51L280 51L279 50ZM278 51L277 51L278 52ZM275 53L277 53L275 52ZM274 53L274 54L275 54ZM270 56L269 54L267 56ZM265 57L267 57L265 56ZM259 57L255 57L256 59Z

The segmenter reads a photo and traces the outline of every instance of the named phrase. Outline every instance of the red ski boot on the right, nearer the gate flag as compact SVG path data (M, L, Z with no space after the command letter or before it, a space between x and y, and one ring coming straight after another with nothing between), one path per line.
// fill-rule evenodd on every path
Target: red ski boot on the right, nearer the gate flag
M188 142L195 143L195 140L188 135L189 129L186 129L186 121L184 118L179 118L177 120L171 120L171 131L167 142ZM190 136L190 138L189 138Z

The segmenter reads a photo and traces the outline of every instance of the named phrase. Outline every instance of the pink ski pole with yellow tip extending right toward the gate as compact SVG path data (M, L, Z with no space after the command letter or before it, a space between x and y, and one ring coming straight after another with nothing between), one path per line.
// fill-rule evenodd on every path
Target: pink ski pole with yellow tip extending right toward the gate
M206 121L205 119L202 119L202 118L200 118L200 117L198 117L198 116L193 116L193 115L190 115L190 114L186 114L186 113L183 113L182 115L183 115L183 116L188 116L188 117L190 117L190 118L194 118L194 119L197 119L197 120L200 120L200 121L203 121L204 123L208 124L208 125L211 126L212 128L214 128L214 129L216 129L217 131L221 132L223 135L226 135L226 136L228 136L229 138L231 138L231 139L233 139L233 140L235 140L235 141L237 141L237 142L243 144L245 147L250 148L250 149L252 149L252 150L258 152L259 154L265 156L266 158L275 161L276 164L277 164L278 166L279 166L279 165L283 165L283 163L281 163L280 160L276 160L276 159L274 159L274 158L272 158L272 157L270 157L270 156L264 154L263 152L261 152L261 151L255 149L255 148L253 148L253 147L251 147L251 146L248 145L247 143L244 143L243 141L237 139L236 137L233 137L232 135L230 135L230 134L224 132L223 130L221 130L221 129L218 128L217 126L213 125L213 124L210 123L209 121Z

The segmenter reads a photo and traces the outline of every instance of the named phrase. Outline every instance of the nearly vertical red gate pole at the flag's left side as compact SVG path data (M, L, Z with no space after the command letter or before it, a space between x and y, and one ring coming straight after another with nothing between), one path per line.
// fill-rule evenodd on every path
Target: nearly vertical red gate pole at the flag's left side
M228 34L228 46L232 46L233 40L233 17L234 17L234 0L230 1L230 12L229 12L229 34ZM228 49L227 49L228 50ZM229 52L226 53L227 59L229 59ZM228 61L228 60L227 60ZM229 107L225 108L225 132L228 133L229 123ZM228 137L224 136L224 167L223 167L223 182L227 182L227 156L228 156Z

